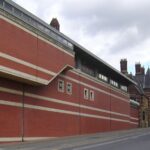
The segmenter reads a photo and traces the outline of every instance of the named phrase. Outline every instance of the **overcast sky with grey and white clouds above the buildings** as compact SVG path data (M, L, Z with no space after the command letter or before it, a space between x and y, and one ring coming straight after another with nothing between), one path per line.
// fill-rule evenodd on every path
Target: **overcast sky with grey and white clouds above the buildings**
M56 17L60 30L120 70L140 62L150 66L149 0L14 0L49 23Z

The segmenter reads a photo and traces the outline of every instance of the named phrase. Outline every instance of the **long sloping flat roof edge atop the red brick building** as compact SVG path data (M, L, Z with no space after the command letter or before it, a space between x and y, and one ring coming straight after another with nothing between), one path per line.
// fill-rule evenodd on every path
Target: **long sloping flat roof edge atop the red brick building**
M83 46L81 46L79 43L75 42L74 40L70 39L69 37L65 36L63 33L57 31L56 29L50 27L47 23L45 23L43 20L41 20L40 18L36 17L35 15L31 14L29 11L25 10L24 8L22 8L21 6L17 5L15 2L13 2L12 0L5 0L7 3L13 5L14 7L16 7L17 9L21 10L22 12L24 12L25 14L27 14L28 16L32 17L33 19L35 19L36 21L40 22L41 24L43 24L44 26L46 26L47 28L51 29L53 32L55 32L57 35L60 35L61 37L63 37L64 39L66 39L67 41L69 41L70 43L72 43L74 46L78 47L81 51L83 51L84 53L86 53L87 55L90 55L93 59L95 59L97 61L97 63L103 64L105 67L109 68L114 74L116 74L116 76L121 77L123 80L125 80L128 84L136 84L132 79L128 78L126 75L122 74L121 72L119 72L117 69L115 69L114 67L112 67L111 65L109 65L108 63L106 63L105 61L103 61L102 59L100 59L99 57L97 57L96 55L94 55L93 53L91 53L89 50L87 50L86 48L84 48Z

